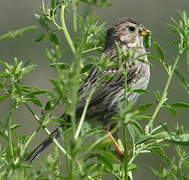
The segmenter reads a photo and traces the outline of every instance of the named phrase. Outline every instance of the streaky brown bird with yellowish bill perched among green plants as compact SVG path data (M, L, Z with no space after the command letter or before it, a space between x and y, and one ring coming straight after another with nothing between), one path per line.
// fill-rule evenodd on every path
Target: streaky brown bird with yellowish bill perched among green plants
M134 60L130 64L123 62L122 66L127 72L127 84L135 89L146 89L150 78L149 65L145 63L148 62L148 59L143 45L143 38L146 35L149 35L149 30L143 25L132 18L124 17L110 25L105 36L104 55L111 61L117 61L119 59L117 58L116 45L119 46L121 53L135 50L134 57L132 57ZM137 59L141 55L143 55L143 61ZM113 76L110 76L108 79L104 78L108 74ZM99 83L98 86L96 86L97 83ZM102 72L98 70L97 66L94 66L78 90L77 119L80 118L86 103L86 98L95 86L96 89L90 99L86 119L97 117L102 124L106 124L104 122L116 113L118 104L125 98L125 74L118 66L109 67ZM128 101L136 101L138 96L139 94L136 92L131 92L128 95ZM51 136L34 149L26 158L28 163L31 163L53 142L52 138L58 138L60 136L59 129L61 127L63 125L55 129L51 133ZM111 138L114 141L112 136Z

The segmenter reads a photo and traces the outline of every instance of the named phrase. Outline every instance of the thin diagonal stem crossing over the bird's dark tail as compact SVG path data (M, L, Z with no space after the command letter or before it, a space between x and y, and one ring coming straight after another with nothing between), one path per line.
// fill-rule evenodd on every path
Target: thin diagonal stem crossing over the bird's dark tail
M33 117L40 123L38 116L33 112L33 110L30 108L30 106L27 103L24 103L24 104L25 104L26 108L29 110L29 112L33 115ZM48 130L48 128L46 128L45 126L42 126L42 128L47 133L47 135L50 137L51 133ZM55 138L52 137L52 140L53 140L54 144L58 147L58 149L63 154L65 154L68 159L72 159L71 156L66 152L66 150L59 144L59 142Z

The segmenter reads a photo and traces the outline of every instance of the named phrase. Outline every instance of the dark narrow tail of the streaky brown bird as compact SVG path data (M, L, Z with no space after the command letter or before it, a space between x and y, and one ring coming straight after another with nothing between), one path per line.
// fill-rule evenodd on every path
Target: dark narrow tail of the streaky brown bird
M30 164L41 152L43 152L50 144L52 144L53 138L57 139L60 137L59 128L55 129L51 133L51 135L46 138L39 146L37 146L37 148L35 148L32 153L25 159L28 164Z

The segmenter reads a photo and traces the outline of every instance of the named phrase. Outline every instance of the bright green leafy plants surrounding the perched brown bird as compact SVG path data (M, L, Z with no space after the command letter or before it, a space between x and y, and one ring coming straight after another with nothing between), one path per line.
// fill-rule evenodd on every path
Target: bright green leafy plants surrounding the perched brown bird
M89 11L86 11L82 17L77 13L77 8L83 3L87 5ZM157 42L153 42L157 55L148 54L150 60L159 61L167 72L164 89L152 92L153 102L134 105L127 101L129 92L134 91L139 94L150 92L142 89L133 90L125 86L125 102L120 105L118 113L112 118L117 122L112 133L117 132L118 129L122 131L120 134L122 138L118 142L125 150L124 156L119 157L110 147L107 132L103 128L98 125L92 127L85 122L88 102L94 90L86 100L79 123L76 123L78 88L93 64L98 64L100 70L119 65L119 61L118 64L112 64L102 55L105 24L100 24L97 17L90 15L92 8L107 5L110 5L108 0L51 0L49 3L42 1L41 11L35 15L42 27L42 32L35 41L49 40L52 44L52 48L44 52L49 61L49 68L53 69L56 75L50 79L52 89L44 90L35 85L22 84L22 79L28 73L34 73L37 68L35 65L29 65L17 58L12 64L0 61L0 102L8 101L10 104L5 123L0 123L0 138L5 142L0 149L0 179L99 180L103 179L104 175L111 174L118 180L132 180L134 171L140 168L136 164L136 158L146 153L156 153L162 158L163 165L160 171L153 170L160 179L189 179L186 173L189 167L188 153L183 150L183 146L189 145L189 132L182 127L172 130L162 121L158 125L155 123L159 120L157 116L163 108L169 109L173 115L179 108L189 108L189 102L168 101L168 89L174 74L189 94L188 81L176 69L179 66L180 56L188 52L189 48L189 18L185 12L179 12L179 20L172 19L173 23L169 25L179 37L179 40L175 41L178 44L178 52L174 63L169 64L166 53ZM72 30L67 29L65 18L67 13L73 20ZM0 36L0 40L22 35L32 29L34 29L33 26L7 33ZM65 37L64 42L60 40L60 33ZM146 41L150 46L150 39ZM71 53L69 63L64 59L62 52L64 49L62 47L65 46ZM120 56L128 60L135 53L132 51L122 55L119 52L119 46L117 46L118 60ZM142 57L137 59L142 61ZM123 73L126 74L125 70ZM44 103L39 95L44 95L48 99L47 102ZM30 106L31 103L35 104L41 112L39 116ZM38 170L24 162L27 148L39 130L43 129L49 135L50 124L65 122L64 118L60 119L54 115L57 106L62 107L63 111L71 117L71 128L61 133L63 145L54 141L54 153L48 155L43 161L40 159L41 165ZM33 120L39 123L32 134L22 136L17 130L21 128L14 122L18 108L26 108ZM174 161L172 157L166 155L168 146L176 147L177 158Z

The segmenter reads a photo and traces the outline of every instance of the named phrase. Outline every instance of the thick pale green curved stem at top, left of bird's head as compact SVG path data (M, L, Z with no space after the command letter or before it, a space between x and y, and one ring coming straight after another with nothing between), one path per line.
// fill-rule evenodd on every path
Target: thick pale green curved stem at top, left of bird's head
M64 35L66 37L66 40L68 42L68 45L72 51L73 54L76 53L76 50L75 50L75 47L74 47L74 44L73 44L73 41L68 33L68 30L67 30L67 27L66 27L66 24L65 24L65 19L64 19L64 14L65 14L65 5L62 5L61 6L61 14L60 14L60 19L61 19L61 30L64 32Z

